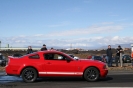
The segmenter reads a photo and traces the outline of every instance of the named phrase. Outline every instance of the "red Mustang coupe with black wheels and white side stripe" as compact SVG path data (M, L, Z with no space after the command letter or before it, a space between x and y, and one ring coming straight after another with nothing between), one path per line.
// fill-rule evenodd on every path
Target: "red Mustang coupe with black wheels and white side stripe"
M88 59L75 60L59 51L38 51L21 57L8 56L7 75L21 76L24 82L38 77L79 76L87 81L106 77L108 70L103 62Z

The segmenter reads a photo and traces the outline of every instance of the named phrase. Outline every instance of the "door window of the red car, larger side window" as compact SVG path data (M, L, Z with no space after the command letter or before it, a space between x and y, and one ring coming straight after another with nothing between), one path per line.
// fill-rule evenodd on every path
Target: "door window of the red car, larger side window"
M66 57L60 54L44 54L45 60L65 60Z

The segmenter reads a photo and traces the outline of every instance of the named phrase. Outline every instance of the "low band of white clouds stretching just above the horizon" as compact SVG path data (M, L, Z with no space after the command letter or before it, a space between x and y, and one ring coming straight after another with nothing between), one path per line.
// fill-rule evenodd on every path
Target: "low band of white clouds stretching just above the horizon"
M4 40L4 39L3 39ZM133 37L90 37L90 38L80 38L80 39L27 39L27 38L6 38L5 41L2 41L3 46L10 44L12 47L24 47L24 46L42 46L46 44L48 47L61 47L61 48L96 48L107 45L115 44L129 44L132 43ZM5 46L4 46L5 47Z

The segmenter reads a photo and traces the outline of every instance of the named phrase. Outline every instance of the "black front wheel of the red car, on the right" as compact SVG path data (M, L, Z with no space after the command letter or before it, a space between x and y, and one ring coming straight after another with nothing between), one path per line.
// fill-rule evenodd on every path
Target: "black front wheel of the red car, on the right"
M97 81L99 79L99 71L95 67L89 67L84 72L84 79L90 82Z

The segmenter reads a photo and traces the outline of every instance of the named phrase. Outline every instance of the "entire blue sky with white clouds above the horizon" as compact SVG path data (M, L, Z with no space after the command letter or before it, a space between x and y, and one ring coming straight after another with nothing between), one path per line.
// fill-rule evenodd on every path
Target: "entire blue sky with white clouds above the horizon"
M1 46L133 43L133 0L0 0Z

